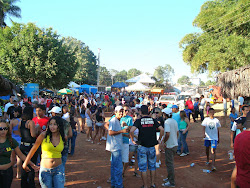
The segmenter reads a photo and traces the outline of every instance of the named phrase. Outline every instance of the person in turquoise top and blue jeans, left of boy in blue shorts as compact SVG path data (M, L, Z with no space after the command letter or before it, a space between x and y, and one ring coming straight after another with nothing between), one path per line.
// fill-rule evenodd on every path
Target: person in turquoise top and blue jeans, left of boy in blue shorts
M188 129L190 128L190 123L189 123L189 120L187 118L185 111L180 111L180 117L181 117L181 121L180 121L179 134L180 134L181 144L178 144L177 153L181 153L181 147L183 145L183 152L180 156L184 157L189 154L186 138L188 134Z

